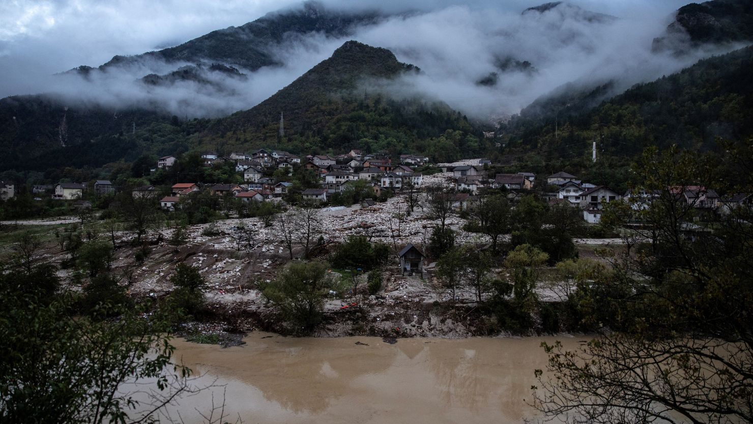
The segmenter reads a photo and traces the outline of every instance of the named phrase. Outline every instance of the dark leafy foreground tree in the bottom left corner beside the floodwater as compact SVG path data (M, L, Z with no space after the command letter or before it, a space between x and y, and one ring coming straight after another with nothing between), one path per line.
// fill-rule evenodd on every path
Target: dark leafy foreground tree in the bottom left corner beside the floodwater
M142 318L146 309L103 304L73 316L71 294L17 291L0 280L2 422L147 422L188 389L190 370L172 361L169 325ZM154 392L127 385L135 380L154 381ZM151 412L134 413L139 405Z

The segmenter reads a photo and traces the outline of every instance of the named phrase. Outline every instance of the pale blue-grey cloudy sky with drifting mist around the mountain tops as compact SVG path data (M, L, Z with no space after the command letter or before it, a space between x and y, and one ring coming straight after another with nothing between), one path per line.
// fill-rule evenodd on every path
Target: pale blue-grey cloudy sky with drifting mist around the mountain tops
M389 20L361 29L353 38L390 48L398 59L418 65L427 75L420 81L410 81L413 87L422 93L442 93L442 100L471 114L489 114L492 109L517 111L536 96L578 78L611 78L627 73L631 76L626 81L633 83L691 63L675 63L650 54L651 39L669 23L672 11L687 0L569 2L620 17L618 23L608 26L558 17L542 21L520 17L523 9L542 2L417 0L409 7L427 12L421 17ZM378 5L387 11L407 7L399 0L324 3L335 8ZM97 92L98 96L111 90L108 101L113 104L138 102L144 93L134 92L133 75L120 75L96 87L57 87L59 82L50 75L75 66L99 66L116 54L139 54L181 44L215 29L240 26L268 12L300 4L299 0L0 0L0 97L60 88L69 93ZM197 98L189 86L182 87L182 94L178 87L149 95L164 99L175 95L175 99L166 100L171 104L191 99L215 115L249 108L330 56L342 42L319 39L284 46L277 54L288 58L286 66L249 75L250 83L233 87L238 96L230 101L214 93L199 93ZM531 60L539 74L527 80L524 75L508 75L494 90L477 87L474 81L493 71L493 59L504 55ZM215 107L224 108L211 112Z

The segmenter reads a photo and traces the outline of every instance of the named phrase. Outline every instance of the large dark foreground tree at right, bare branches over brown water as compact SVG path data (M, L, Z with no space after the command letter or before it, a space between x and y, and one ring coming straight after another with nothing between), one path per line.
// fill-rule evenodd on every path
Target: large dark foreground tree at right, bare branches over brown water
M636 182L651 196L627 216L641 224L629 236L643 241L615 255L612 278L595 278L581 297L586 317L611 331L580 349L545 346L550 361L546 373L536 371L535 405L547 416L753 421L751 209L695 220L698 208L684 198L724 187L720 177L735 160L719 159L649 148L637 161Z

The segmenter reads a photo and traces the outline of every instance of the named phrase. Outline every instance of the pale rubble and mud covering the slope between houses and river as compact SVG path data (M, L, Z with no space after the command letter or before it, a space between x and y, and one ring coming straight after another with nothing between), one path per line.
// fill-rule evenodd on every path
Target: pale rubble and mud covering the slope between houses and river
M437 174L425 177L425 185L451 184L450 174ZM400 249L407 243L425 246L436 221L426 216L427 209L416 207L407 218L398 220L397 212L407 211L405 197L393 197L386 203L361 209L354 205L348 208L319 210L319 223L325 245L316 255L325 257L337 243L347 236L359 234L369 237L372 242L386 243ZM50 222L53 220L50 220ZM33 222L33 221L32 221ZM456 230L456 243L486 244L486 236L462 230L465 221L453 215L448 224ZM64 230L59 224L50 225L50 233ZM217 235L204 235L206 227L212 226ZM251 228L251 242L241 236L239 227ZM42 228L42 227L37 227ZM43 228L38 231L44 230ZM174 286L169 281L175 266L181 262L198 267L206 279L206 313L200 314L199 322L187 323L183 332L237 334L254 329L264 329L280 333L295 332L287 328L276 316L275 311L259 291L259 282L272 280L281 267L289 261L290 255L281 243L276 226L265 227L257 218L228 219L215 224L194 225L187 229L187 243L182 246L169 246L171 229L152 231L145 237L151 244L151 252L142 264L136 264L136 248L133 233L114 234L117 249L114 252L112 273L128 285L128 292L134 297L163 297ZM161 234L161 236L160 236ZM109 233L99 233L99 237L111 239ZM69 255L62 252L56 238L48 237L41 252L40 261L61 264ZM595 257L597 246L617 244L619 240L579 240L582 256ZM10 249L10 246L2 248ZM5 252L7 253L7 252ZM300 257L302 249L294 249L294 256ZM416 276L399 275L397 258L386 267L383 290L376 295L366 293L365 282L358 293L346 293L345 297L332 297L325 304L325 322L314 335L338 337L347 335L374 335L380 337L468 337L484 334L477 322L478 311L469 293L461 292L453 307L449 304L449 293L438 288L436 279L431 276L434 264L428 264L430 276L420 279ZM502 272L502 270L498 270ZM72 281L71 268L59 270L66 282ZM78 289L79 286L72 288ZM563 300L562 291L552 285L542 284L540 297L544 300ZM354 306L351 306L355 304ZM232 337L231 337L232 338ZM230 342L232 343L232 340Z

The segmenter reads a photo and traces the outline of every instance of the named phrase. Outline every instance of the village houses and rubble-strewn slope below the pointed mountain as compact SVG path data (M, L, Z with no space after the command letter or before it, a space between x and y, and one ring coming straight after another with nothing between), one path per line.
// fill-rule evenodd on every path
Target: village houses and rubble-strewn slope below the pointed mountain
M264 149L227 156L205 153L201 158L202 166L207 168L232 167L238 177L242 175L243 182L177 181L170 186L116 188L111 181L97 180L93 185L59 182L33 188L35 196L49 193L55 201L68 203L78 211L73 218L50 221L70 224L62 233L69 239L92 225L89 221L96 222L96 197L117 194L121 199L111 203L110 209L100 211L101 217L114 216L108 212L113 208L148 215L136 227L111 224L111 269L127 280L131 296L160 298L175 288L170 278L176 264L196 267L206 279L206 311L213 311L203 314L209 318L191 324L201 331L264 328L285 333L285 326L275 318L273 305L264 296L265 282L275 280L294 258L326 260L337 246L362 237L367 243L389 246L392 252L380 270L380 289L367 293L365 287L358 288L359 279L365 283L366 270L333 267L329 270L333 278L352 281L355 286L333 293L325 301L324 312L329 321L316 328L315 334L486 334L488 329L478 323L480 317L469 311L477 304L474 300L491 294L479 290L474 294L467 287L448 289L446 276L437 273L437 261L452 246L472 246L473 256L497 253L498 241L500 245L511 242L511 231L522 228L520 223L508 222L497 233L480 229L479 211L489 199L504 200L504 207L509 208L510 215L505 218L508 220L536 221L510 212L529 197L552 211L560 211L556 213L566 214L556 220L581 221L562 230L564 235L557 235L565 236L568 243L576 246L562 259L603 261L597 255L599 249L620 252L623 243L620 233L605 234L599 226L605 206L622 200L633 209L642 209L659 195L640 189L620 194L568 172L547 176L525 170L497 173L495 165L484 159L432 164L428 157L402 154L393 161L386 154L352 150L336 157L309 155L302 163L302 158L294 154ZM153 172L169 171L178 162L173 156L161 157ZM296 175L303 175L308 182L302 185ZM314 184L316 187L312 187ZM2 187L5 199L12 199L13 185L4 183ZM715 191L697 186L683 188L677 194L702 213L723 214L746 202L745 196L720 199ZM202 221L191 218L197 208L212 210L200 214L206 215ZM142 209L147 212L138 212ZM188 212L191 210L194 212ZM133 224L133 217L123 217L121 221ZM557 227L559 223L544 224L542 228L547 225ZM285 233L288 227L292 230ZM449 248L436 240L440 228L451 234ZM134 258L138 260L135 262ZM44 261L66 260L59 250L50 247L44 253ZM575 283L557 276L553 265L550 261L548 268L544 267L535 292L544 302L566 301ZM75 270L60 268L58 273L63 279L75 280ZM509 270L497 261L484 272L504 278ZM448 303L453 307L442 310L440 305Z

